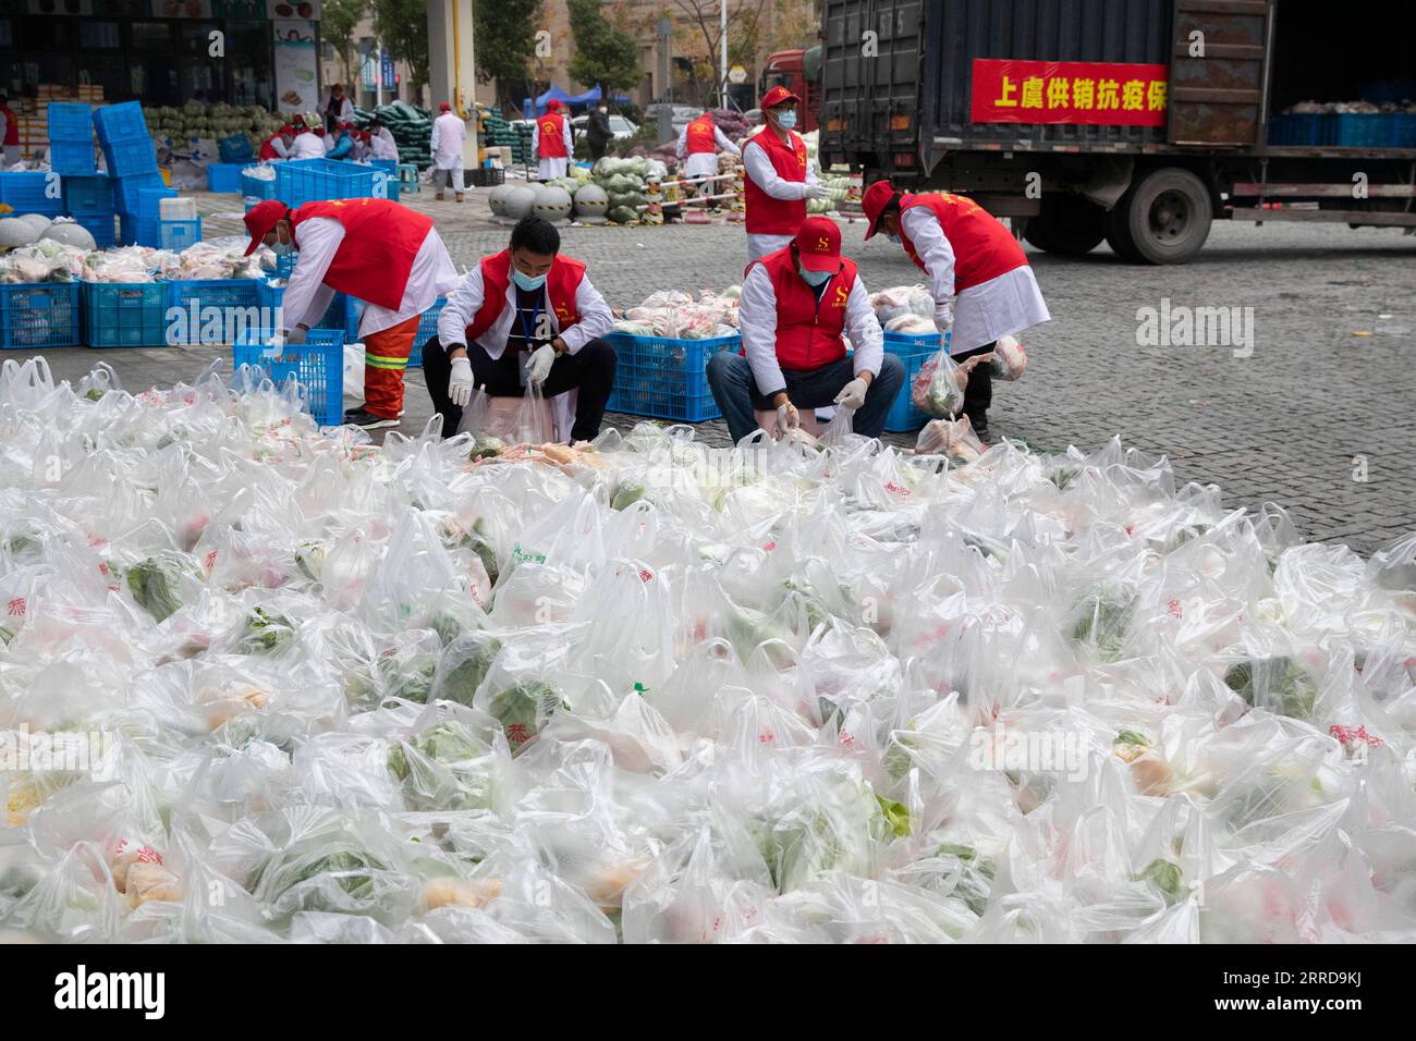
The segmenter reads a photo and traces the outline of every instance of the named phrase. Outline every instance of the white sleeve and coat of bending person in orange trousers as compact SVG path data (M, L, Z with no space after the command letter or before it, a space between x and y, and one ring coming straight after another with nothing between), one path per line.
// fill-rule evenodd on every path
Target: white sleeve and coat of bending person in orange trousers
M324 283L324 273L330 269L340 244L344 242L344 225L330 217L312 217L300 222L296 237L300 256L295 271L290 272L290 285L285 290L280 324L285 329L295 329L299 324L314 329L334 299L334 289ZM398 309L365 303L364 316L360 319L360 336L392 329L399 322L422 314L439 296L456 286L457 269L452 266L447 246L443 245L438 229L429 228L428 237L413 256L413 268L408 273Z

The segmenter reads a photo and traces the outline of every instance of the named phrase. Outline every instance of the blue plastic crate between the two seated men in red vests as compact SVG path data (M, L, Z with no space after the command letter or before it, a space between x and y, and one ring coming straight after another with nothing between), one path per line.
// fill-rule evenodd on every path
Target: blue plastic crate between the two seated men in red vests
M694 423L721 415L708 387L708 361L718 351L742 347L741 334L671 340L610 333L606 339L619 357L606 404L610 412Z

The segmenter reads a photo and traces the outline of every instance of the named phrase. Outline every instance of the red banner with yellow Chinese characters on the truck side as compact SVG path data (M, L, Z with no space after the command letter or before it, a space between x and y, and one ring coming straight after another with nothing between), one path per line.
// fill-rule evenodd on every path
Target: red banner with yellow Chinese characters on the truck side
M1165 65L974 58L973 122L1164 126Z

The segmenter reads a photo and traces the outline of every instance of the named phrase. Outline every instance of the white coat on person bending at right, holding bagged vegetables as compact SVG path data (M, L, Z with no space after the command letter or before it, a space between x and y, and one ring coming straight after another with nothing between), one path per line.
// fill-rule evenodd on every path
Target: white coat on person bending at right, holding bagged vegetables
M954 248L939 218L922 205L903 212L901 229L925 265L929 293L935 297L935 327L943 331L947 326L944 307L954 299ZM959 293L953 312L950 354L971 351L1000 336L1014 336L1052 319L1031 265L1005 271L964 289Z

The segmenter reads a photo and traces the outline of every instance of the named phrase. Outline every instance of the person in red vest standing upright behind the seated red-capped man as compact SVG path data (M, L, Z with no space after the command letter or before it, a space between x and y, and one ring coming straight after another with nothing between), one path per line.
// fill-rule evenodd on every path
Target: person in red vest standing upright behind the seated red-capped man
M809 198L827 198L796 126L801 99L784 86L762 95L766 126L742 143L748 204L748 262L782 249L806 220Z

